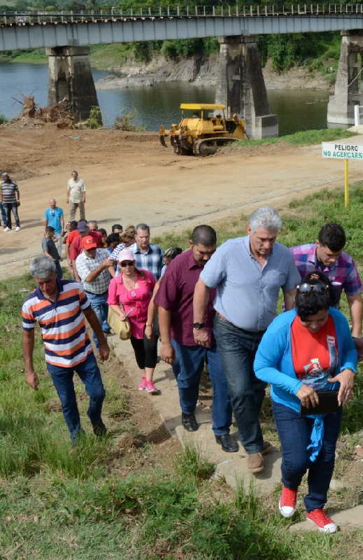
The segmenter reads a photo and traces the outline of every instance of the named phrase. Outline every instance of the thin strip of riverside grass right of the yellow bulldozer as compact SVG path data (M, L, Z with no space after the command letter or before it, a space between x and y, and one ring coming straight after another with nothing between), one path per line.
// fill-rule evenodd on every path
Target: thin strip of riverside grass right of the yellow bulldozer
M269 137L261 140L241 140L235 142L233 147L243 148L244 146L260 146L261 144L279 144L286 142L292 146L311 146L320 142L329 142L339 138L349 138L355 133L349 132L345 128L325 128L322 130L301 130L294 134L287 134L280 137Z

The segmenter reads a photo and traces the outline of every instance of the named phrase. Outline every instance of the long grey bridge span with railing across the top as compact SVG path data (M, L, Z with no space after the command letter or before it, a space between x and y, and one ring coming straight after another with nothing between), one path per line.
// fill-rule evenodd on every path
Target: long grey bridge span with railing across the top
M186 6L90 13L0 13L0 51L363 28L363 4Z

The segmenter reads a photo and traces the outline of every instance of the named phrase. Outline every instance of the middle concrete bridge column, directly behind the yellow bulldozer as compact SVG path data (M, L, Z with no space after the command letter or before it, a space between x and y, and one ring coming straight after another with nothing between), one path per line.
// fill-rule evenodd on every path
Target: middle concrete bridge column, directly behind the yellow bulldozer
M218 41L220 69L215 102L225 104L229 115L244 116L251 138L278 136L278 119L270 113L257 39L229 36Z

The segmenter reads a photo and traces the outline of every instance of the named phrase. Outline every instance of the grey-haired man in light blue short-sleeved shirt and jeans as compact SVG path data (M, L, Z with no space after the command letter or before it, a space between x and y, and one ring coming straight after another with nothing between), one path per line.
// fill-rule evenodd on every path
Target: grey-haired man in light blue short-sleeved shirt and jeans
M276 242L282 221L270 207L250 216L248 236L229 239L204 267L194 292L194 329L197 344L205 345L203 328L206 301L217 288L214 307L215 339L229 385L234 417L251 472L264 469L264 442L259 412L265 384L255 377L253 361L264 331L276 316L278 295L283 290L285 309L294 305L299 272L289 249Z

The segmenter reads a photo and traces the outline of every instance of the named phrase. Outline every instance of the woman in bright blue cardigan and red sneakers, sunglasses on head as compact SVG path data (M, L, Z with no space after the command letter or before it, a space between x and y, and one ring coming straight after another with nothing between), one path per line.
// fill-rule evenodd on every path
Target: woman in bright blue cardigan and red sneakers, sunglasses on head
M254 365L256 376L271 384L283 450L280 513L294 514L297 491L308 470L306 517L324 533L337 530L323 508L334 470L341 406L352 396L357 372L348 321L331 304L327 277L308 274L297 286L296 309L276 317L264 333Z

